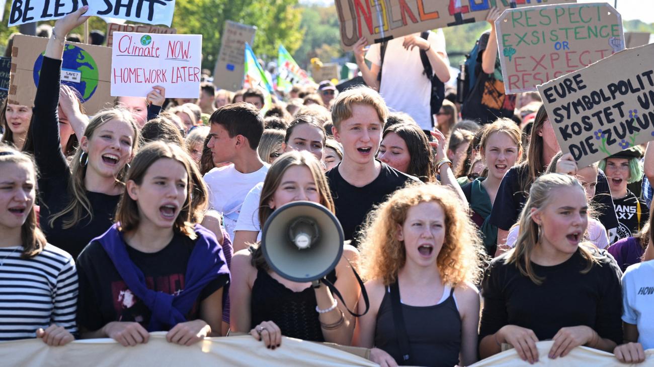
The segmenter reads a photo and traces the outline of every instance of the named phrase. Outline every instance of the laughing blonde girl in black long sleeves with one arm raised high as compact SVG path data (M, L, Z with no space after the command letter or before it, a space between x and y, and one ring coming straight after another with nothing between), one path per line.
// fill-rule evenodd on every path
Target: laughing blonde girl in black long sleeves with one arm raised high
M61 59L65 35L82 24L88 7L81 7L55 24L48 40L34 101L34 155L41 172L41 228L48 241L77 258L92 238L107 231L124 191L122 182L139 141L139 131L127 110L95 114L80 138L69 164L61 153L59 120ZM80 110L67 113L80 120ZM72 124L72 122L71 122Z

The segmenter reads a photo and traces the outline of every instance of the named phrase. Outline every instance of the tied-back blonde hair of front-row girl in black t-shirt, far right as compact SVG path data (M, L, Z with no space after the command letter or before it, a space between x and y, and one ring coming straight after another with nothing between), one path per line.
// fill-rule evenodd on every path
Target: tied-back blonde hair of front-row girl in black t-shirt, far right
M528 276L536 285L541 285L545 278L537 276L532 268L531 259L534 253L534 247L540 241L540 230L538 224L532 219L532 208L535 208L537 211L543 210L553 197L552 191L561 187L575 187L581 190L581 193L584 193L579 180L567 174L543 174L532 183L529 190L529 197L518 221L520 225L518 239L515 242L515 247L508 252L504 260L505 264L515 264L521 274ZM590 244L580 244L579 246L581 257L587 263L586 268L581 270L581 274L587 274L593 268L594 264L599 264L600 259L604 259L604 255L593 251L591 247L593 246Z

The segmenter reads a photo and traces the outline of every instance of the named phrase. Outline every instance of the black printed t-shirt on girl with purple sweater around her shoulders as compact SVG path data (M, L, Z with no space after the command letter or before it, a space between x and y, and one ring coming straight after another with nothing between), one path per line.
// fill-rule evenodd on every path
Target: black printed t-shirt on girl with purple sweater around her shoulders
M194 246L194 240L176 233L171 242L156 253L126 247L129 259L143 272L148 289L173 295L184 290L186 265ZM90 243L82 251L77 259L77 273L79 327L94 331L111 321L135 321L148 327L152 311L129 290L99 242ZM211 281L185 315L186 319L198 319L199 302L223 287L226 281L225 277Z

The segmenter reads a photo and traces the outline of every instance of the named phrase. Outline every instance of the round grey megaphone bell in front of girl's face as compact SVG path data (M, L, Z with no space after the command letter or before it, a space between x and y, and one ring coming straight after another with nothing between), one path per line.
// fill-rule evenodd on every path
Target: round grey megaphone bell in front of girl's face
M343 229L336 216L311 201L285 204L264 225L261 246L272 270L304 283L324 278L343 253Z

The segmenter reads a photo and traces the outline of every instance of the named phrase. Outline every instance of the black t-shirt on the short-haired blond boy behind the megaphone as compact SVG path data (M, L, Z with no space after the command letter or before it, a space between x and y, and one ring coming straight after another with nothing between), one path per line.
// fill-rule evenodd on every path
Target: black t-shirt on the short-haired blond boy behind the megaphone
M355 240L366 215L374 205L384 202L388 195L404 186L405 182L420 182L417 178L404 174L386 163L379 163L381 163L379 176L363 187L353 186L343 179L338 172L340 163L327 172L329 188L336 206L336 217L341 222L346 241ZM353 241L353 245L354 242L356 241Z

